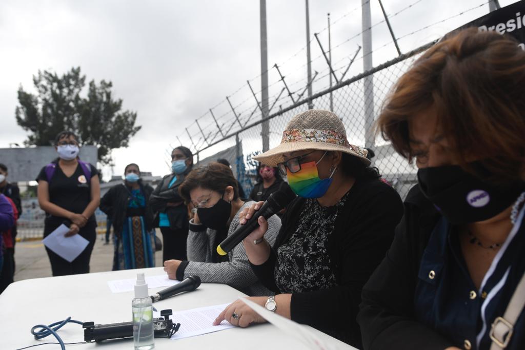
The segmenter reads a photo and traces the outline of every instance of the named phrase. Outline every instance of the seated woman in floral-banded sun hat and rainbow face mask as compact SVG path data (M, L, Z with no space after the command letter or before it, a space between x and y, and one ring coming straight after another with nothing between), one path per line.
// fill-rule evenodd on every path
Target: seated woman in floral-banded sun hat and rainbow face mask
M333 112L296 115L281 144L255 158L287 175L298 197L282 218L273 249L264 239L264 218L243 241L252 269L277 294L250 299L361 347L355 321L361 289L393 240L403 214L400 196L380 181L366 150L349 144ZM244 211L241 223L260 206ZM215 323L222 320L241 327L265 322L240 301L226 307Z

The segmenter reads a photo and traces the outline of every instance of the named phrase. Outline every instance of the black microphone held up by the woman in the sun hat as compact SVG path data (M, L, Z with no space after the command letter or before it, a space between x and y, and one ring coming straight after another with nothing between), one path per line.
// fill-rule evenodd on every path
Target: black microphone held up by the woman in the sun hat
M275 213L278 213L279 210L286 207L292 200L295 198L295 193L292 190L277 191L274 192L268 197L268 200L254 213L249 220L246 221L246 224L239 225L237 229L226 239L217 246L217 253L220 255L226 255L230 250L237 246L243 239L246 238L251 232L253 232L257 227L259 227L259 222L257 221L259 217L268 218Z

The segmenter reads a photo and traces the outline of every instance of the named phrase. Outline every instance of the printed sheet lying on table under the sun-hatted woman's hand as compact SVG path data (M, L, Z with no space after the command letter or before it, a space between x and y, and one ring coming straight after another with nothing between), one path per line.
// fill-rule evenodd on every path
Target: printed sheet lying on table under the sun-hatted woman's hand
M213 321L217 318L220 312L222 312L228 304L213 305L198 307L197 309L175 311L170 319L173 323L180 323L181 327L178 328L171 339L182 339L187 337L193 337L196 335L213 333L217 331L227 330L228 328L235 327L229 324L227 321L223 321L219 325L214 326ZM160 312L153 312L154 317L160 317Z

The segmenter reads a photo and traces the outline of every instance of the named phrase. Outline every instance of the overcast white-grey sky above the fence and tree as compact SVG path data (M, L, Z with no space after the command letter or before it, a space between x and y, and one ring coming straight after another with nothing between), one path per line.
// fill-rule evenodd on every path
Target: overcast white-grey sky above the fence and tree
M513 2L500 0L501 6ZM383 0L383 4L396 37L402 37L403 52L489 9L485 0ZM332 60L339 65L344 66L361 44L360 6L361 0L310 0L311 38L320 33L328 46L325 27L330 13ZM376 65L397 54L381 23L379 2L371 0L371 10L372 24L379 23L372 29ZM279 64L292 90L302 90L306 79L304 19L303 0L267 0L268 65ZM260 90L259 25L258 0L3 0L0 147L26 139L14 116L18 87L32 90L31 79L39 69L61 74L80 66L88 81L111 80L114 96L123 99L124 109L137 111L137 123L142 125L130 147L113 151L114 173L137 162L143 171L163 175L166 149L178 144L176 136L188 143L186 126L195 130L192 123L202 115L202 126L213 122L205 114L225 96L244 108L241 102L250 98L246 80ZM315 39L311 50L312 69L325 70ZM347 77L361 70L358 59ZM277 71L270 69L270 84L277 80ZM314 90L325 87L323 80L316 84ZM272 85L270 96L280 89L279 84ZM254 101L245 107L249 104ZM222 103L216 112L224 108L229 107ZM111 169L104 169L104 177L110 175Z

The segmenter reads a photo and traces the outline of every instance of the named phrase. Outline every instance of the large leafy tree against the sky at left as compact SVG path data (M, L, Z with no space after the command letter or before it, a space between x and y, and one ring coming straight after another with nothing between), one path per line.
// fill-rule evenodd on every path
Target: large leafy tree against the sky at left
M89 82L87 97L81 97L86 76L80 67L61 77L38 71L33 76L36 93L18 89L16 122L29 132L26 145L49 146L64 130L75 132L81 144L96 145L98 160L111 164L111 150L127 147L141 126L135 126L137 112L122 111L122 100L113 99L111 81Z

